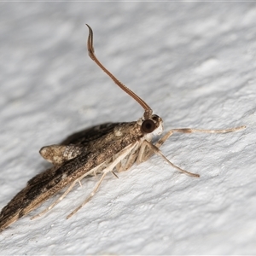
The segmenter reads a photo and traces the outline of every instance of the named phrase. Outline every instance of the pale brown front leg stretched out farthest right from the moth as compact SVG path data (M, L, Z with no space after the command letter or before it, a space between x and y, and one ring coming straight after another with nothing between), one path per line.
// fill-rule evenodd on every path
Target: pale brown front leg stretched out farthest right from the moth
M165 143L166 140L169 137L171 137L174 132L182 132L182 133L195 133L195 132L201 132L201 133L228 133L228 132L232 132L232 131L240 131L240 130L243 130L245 128L246 128L246 126L242 125L242 126L239 126L239 127L230 128L230 129L222 129L222 130L203 130L203 129L193 129L193 128L172 129L172 130L168 131L164 137L161 137L160 140L157 143L154 144L154 146L157 147L157 148L160 148L160 146L163 143ZM154 152L149 149L149 151L146 152L143 161L148 160L148 158L150 158L153 154L154 154Z

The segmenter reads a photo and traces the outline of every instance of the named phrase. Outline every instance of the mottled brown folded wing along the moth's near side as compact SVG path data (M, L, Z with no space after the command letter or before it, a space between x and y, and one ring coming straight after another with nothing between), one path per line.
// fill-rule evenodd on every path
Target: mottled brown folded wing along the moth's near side
M119 131L118 136L114 135L115 129ZM84 173L111 159L129 144L135 143L139 137L142 137L142 134L137 122L96 125L67 137L61 144L79 144L84 148L82 153L67 160L61 166L53 166L32 177L26 188L15 195L0 212L0 231L31 212Z

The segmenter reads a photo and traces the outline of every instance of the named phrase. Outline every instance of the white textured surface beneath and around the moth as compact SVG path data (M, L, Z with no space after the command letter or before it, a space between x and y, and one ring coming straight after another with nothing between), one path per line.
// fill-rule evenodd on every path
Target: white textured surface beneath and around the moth
M143 110L87 56L96 55L165 120L162 148L191 178L154 156L109 175L95 198L68 213L84 181L42 218L0 235L1 254L255 254L255 3L0 3L0 207L49 165L38 149ZM49 202L45 203L42 210Z

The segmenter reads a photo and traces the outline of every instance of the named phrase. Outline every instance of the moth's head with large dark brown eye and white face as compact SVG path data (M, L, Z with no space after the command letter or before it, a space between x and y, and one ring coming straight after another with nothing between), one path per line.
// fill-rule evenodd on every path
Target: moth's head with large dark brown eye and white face
M143 134L160 135L163 132L163 120L156 114L152 114L148 119L140 119L141 131Z

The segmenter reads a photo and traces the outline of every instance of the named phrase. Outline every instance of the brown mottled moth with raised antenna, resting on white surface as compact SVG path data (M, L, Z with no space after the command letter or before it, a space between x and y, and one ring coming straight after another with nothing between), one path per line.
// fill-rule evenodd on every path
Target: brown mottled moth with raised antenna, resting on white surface
M112 73L102 66L102 63L98 61L94 53L92 29L90 26L88 28L87 48L90 58L102 68L103 72L113 79L115 84L125 90L129 96L143 107L143 117L134 122L96 125L74 133L60 144L41 148L39 153L45 160L51 162L53 166L32 177L27 182L26 187L15 195L6 207L3 207L0 213L0 231L3 231L10 224L15 223L17 219L32 212L51 196L66 188L66 191L54 203L32 218L43 215L55 207L84 177L101 174L101 178L90 195L67 216L67 218L70 218L96 194L108 172L112 172L115 177L118 177L116 172L126 171L135 163L139 165L148 160L153 154L160 155L179 172L191 177L199 177L199 174L185 171L166 159L160 151L160 146L175 132L225 133L240 131L245 128L245 126L240 126L224 130L172 129L166 132L166 135L156 143L152 143L153 137L159 136L163 131L163 120L153 113L143 99L120 83Z

